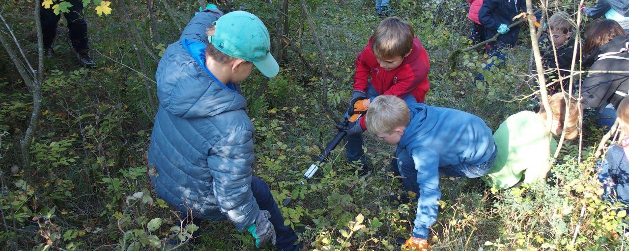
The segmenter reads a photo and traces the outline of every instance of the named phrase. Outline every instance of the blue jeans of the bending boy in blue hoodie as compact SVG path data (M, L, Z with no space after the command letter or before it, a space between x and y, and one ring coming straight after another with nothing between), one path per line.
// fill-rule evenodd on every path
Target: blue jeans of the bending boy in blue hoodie
M494 161L496 161L496 155L498 149L494 144L494 152L491 157L482 164L477 166L467 163L457 164L455 166L440 166L439 173L445 176L454 177L467 177L478 178L489 173L491 168L494 167ZM420 195L420 185L417 183L417 169L415 169L415 161L411 154L405 149L399 149L396 151L396 158L391 161L391 171L402 176L402 184L404 190L413 191L416 195Z

